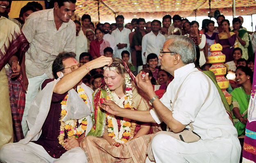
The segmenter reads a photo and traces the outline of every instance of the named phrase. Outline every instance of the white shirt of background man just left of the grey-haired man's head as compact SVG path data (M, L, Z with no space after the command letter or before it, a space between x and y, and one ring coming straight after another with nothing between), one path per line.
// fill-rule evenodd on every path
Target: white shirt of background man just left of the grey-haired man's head
M147 55L150 53L155 53L159 56L159 49L163 48L163 43L165 42L165 37L160 32L155 35L152 31L147 33L142 38L142 61L143 64L147 62ZM145 53L145 56L143 53Z

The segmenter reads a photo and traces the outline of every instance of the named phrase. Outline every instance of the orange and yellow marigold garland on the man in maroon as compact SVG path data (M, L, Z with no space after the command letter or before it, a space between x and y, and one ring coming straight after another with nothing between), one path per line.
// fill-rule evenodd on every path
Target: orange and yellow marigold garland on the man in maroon
M81 86L77 86L79 89L77 90L77 93L79 96L83 99L85 104L88 104L87 102L87 95L84 91L84 89ZM64 143L64 137L65 137L65 130L67 132L68 138L79 138L87 128L87 120L86 117L83 117L81 119L69 119L66 122L64 122L62 119L65 117L67 114L66 111L66 104L67 104L67 99L68 99L68 94L66 97L61 101L61 119L59 120L61 122L60 126L60 132L59 132L59 144L62 146L65 144ZM77 127L77 121L79 123L79 126Z

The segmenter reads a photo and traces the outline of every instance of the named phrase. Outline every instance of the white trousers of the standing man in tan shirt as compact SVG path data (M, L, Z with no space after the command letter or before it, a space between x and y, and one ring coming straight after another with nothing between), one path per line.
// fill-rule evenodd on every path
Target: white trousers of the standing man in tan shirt
M28 79L25 109L24 109L23 117L21 121L21 127L23 130L24 137L26 137L27 132L29 130L27 126L28 110L30 108L31 102L34 100L37 93L39 93L39 90L41 90L41 85L45 79L48 79L48 76L45 73L43 75Z

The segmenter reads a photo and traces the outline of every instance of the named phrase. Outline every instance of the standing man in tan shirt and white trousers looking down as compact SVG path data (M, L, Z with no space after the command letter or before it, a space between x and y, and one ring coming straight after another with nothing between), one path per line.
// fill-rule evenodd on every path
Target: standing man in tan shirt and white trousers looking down
M53 78L52 63L63 51L75 51L75 23L70 20L75 12L76 0L56 0L53 9L37 11L29 15L23 26L30 47L26 52L26 74L29 81L25 110L22 119L26 136L27 113L30 104L47 78Z

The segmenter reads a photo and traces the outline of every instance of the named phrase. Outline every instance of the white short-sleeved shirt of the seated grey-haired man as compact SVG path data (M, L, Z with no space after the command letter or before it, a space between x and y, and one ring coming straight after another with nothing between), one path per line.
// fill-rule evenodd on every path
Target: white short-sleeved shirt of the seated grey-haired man
M195 72L184 81L188 73L192 71ZM168 85L167 91L160 101L171 110L170 100L174 100L180 84L184 81L174 103L173 118L184 125L193 122L193 131L199 134L203 140L230 137L231 135L237 137L236 128L229 119L218 90L213 81L209 80L211 90L205 101L209 87L206 76L195 68L195 64L187 64L174 71L174 79ZM150 110L150 114L156 123L161 123L162 120L154 109Z

